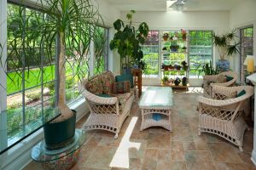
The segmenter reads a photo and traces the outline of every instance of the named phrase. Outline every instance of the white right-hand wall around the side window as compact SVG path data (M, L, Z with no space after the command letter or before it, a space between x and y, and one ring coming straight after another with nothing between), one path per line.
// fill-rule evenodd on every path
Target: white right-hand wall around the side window
M254 30L254 56L256 54L256 0L244 0L236 8L230 11L230 28L241 28L245 26L253 26ZM239 31L239 30L238 30ZM255 56L256 57L256 56ZM256 60L256 58L255 58ZM230 58L230 64L233 65L235 71L240 71L239 54Z

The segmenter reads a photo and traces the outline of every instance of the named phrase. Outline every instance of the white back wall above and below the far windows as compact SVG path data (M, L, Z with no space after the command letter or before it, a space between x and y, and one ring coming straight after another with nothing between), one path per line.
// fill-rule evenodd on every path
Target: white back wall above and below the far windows
M121 13L121 19L125 19L126 12ZM217 33L223 33L230 29L230 14L225 11L208 12L137 12L134 14L135 22L145 21L150 30L212 30ZM214 48L215 49L215 48ZM214 50L213 56L218 56ZM213 57L214 58L214 57ZM213 63L214 60L213 60ZM118 64L118 63L116 63ZM154 82L154 83L152 83ZM200 86L199 81L190 81L192 86ZM143 84L160 84L160 78L143 78Z

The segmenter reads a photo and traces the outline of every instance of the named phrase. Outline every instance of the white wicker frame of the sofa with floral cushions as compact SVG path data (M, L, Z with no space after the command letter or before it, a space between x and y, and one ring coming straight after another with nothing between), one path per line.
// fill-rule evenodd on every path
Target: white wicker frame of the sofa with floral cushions
M84 95L90 108L90 116L82 128L87 130L107 130L115 133L114 138L117 139L125 118L130 115L131 105L134 100L133 92L127 93L128 96L126 94L117 94L117 97L99 97L85 88L87 82L88 80L84 80L79 83L79 90ZM124 95L126 95L125 98L119 98Z

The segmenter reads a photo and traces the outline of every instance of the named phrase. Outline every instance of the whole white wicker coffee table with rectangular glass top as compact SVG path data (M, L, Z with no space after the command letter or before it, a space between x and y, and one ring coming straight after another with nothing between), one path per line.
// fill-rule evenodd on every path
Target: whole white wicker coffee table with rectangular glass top
M149 87L138 105L143 118L141 131L148 127L164 127L172 132L172 88Z

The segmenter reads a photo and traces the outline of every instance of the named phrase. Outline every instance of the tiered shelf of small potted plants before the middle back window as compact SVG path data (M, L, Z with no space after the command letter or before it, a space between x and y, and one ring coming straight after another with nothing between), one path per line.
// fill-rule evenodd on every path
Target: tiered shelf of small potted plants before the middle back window
M161 84L172 88L188 88L187 32L182 29L161 33Z

